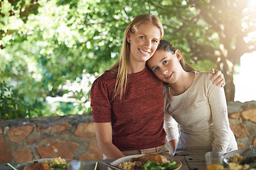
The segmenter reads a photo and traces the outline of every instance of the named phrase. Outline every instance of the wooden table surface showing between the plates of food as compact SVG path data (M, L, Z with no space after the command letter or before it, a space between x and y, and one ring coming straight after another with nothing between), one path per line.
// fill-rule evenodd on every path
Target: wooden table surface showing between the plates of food
M204 159L204 155L194 155L194 156L176 156L175 159L181 161L182 166L181 170L205 170L206 169L206 162ZM101 162L111 163L114 160L105 159L105 160L87 160L81 161L82 164L85 164L85 167L82 170L94 170L95 164L98 162L97 170L107 170L107 166L102 164ZM15 167L18 164L13 164ZM0 170L11 170L7 164L0 164Z

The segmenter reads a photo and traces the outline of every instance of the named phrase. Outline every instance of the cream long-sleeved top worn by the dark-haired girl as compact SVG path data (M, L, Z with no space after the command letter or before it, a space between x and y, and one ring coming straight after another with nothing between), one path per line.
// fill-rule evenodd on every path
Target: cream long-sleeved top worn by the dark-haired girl
M164 128L168 141L178 139L178 155L238 149L230 130L224 89L210 81L211 75L195 72L191 86L178 96L171 96L170 87L164 86Z

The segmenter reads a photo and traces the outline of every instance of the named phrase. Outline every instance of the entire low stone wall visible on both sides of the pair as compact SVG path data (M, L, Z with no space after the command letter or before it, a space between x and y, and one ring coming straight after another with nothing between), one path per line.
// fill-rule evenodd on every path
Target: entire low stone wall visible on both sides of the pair
M256 101L230 102L228 115L238 148L256 145ZM0 120L0 163L54 157L102 159L92 115Z

